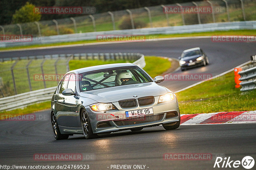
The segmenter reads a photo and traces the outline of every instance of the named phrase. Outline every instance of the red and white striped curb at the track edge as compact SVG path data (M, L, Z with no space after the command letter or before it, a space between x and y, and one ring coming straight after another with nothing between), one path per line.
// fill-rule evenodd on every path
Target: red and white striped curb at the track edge
M232 111L180 115L181 125L256 123L256 111Z

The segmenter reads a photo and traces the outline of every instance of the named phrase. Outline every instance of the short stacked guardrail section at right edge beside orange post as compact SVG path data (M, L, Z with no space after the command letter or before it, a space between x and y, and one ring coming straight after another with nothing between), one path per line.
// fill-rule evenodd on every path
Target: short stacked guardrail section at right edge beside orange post
M248 90L254 90L256 89L256 63L251 64L247 67L245 67L242 71L240 71L238 74L241 76L239 79L242 81L240 85L242 88L241 91L248 91Z

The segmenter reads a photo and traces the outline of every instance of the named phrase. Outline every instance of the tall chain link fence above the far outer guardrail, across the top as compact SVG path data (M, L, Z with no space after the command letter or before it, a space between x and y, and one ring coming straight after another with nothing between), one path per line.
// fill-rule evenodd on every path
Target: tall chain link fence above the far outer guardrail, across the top
M211 7L212 12L164 12L167 7ZM256 20L255 0L206 0L182 4L165 4L131 10L84 15L32 23L2 25L1 35L33 35L33 37L72 33L206 24L215 22ZM43 14L42 14L43 15Z

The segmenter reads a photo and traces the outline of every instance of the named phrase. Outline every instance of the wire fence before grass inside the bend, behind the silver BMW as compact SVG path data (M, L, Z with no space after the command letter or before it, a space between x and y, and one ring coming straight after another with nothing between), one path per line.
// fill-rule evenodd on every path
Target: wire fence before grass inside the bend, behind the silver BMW
M0 98L57 86L70 60L126 60L140 65L140 53L81 53L5 58L0 62ZM144 57L141 58L144 60ZM145 63L145 60L144 62Z

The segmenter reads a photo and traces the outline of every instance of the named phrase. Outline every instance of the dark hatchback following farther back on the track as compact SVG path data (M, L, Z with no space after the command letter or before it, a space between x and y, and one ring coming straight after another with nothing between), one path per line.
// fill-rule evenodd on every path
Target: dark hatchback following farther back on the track
M206 66L207 64L209 64L207 55L199 47L184 50L181 53L179 59L181 71L184 71L188 68Z

